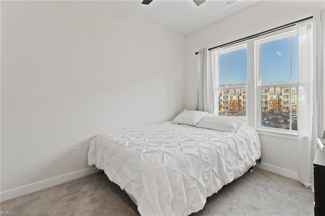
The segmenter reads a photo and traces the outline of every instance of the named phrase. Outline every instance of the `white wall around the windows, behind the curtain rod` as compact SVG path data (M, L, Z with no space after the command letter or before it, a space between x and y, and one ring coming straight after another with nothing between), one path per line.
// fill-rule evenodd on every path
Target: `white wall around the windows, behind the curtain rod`
M194 53L204 47L215 47L249 35L272 29L313 15L313 12L325 8L323 1L262 1L234 15L194 31L185 37L185 109L197 107L197 68L198 56ZM253 68L248 68L252 70ZM249 78L254 81L254 78ZM248 86L250 91L252 86ZM252 92L252 91L250 91ZM247 107L254 107L249 100ZM254 116L253 109L249 115ZM253 119L253 118L252 118ZM249 119L249 125L254 120ZM292 178L298 178L298 141L295 136L287 138L278 135L259 135L262 143L262 168Z

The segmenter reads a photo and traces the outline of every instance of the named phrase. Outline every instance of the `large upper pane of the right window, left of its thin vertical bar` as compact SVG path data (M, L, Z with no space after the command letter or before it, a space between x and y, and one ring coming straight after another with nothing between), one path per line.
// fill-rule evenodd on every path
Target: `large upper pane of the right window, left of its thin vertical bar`
M290 40L261 45L261 82L290 82Z

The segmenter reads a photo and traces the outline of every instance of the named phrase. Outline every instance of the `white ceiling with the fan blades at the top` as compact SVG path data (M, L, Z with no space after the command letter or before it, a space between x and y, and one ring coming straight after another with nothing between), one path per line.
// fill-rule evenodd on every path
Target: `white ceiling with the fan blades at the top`
M107 1L107 4L186 35L261 1L240 0L227 6L222 0L206 0L199 7L192 0L154 0L149 5L141 4L142 0Z

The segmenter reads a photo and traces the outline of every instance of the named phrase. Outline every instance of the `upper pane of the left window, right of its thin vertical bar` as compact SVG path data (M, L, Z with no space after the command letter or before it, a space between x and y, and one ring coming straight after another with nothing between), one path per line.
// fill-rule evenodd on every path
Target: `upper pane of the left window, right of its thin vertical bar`
M228 53L227 79L228 86L247 84L247 49Z

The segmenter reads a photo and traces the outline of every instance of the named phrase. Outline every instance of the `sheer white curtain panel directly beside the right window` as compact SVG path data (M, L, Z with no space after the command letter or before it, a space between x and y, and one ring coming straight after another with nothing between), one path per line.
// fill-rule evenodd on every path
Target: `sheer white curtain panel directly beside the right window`
M298 149L300 181L312 188L311 128L313 107L313 21L297 24L298 34Z

